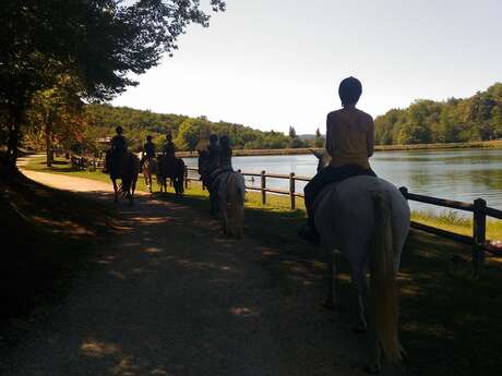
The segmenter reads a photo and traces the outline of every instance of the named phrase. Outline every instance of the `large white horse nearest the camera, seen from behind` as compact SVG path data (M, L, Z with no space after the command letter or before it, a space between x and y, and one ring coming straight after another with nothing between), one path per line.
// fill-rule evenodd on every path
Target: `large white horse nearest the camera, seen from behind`
M382 179L355 177L325 189L315 206L315 228L328 252L328 299L333 302L335 298L332 253L338 250L350 265L360 325L364 327L369 318L372 347L369 367L376 372L380 350L391 362L402 357L395 278L409 231L408 203L393 184ZM366 278L368 265L371 289Z

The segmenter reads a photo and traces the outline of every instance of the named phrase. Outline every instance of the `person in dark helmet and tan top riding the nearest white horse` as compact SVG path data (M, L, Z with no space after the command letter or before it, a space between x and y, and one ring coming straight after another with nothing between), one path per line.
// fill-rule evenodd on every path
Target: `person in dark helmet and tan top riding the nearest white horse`
M356 175L376 177L369 158L373 155L373 118L356 108L362 85L355 77L343 80L338 87L342 109L330 112L326 120L326 150L332 159L327 167L304 187L308 226L299 232L306 240L319 244L312 206L321 191L327 185Z

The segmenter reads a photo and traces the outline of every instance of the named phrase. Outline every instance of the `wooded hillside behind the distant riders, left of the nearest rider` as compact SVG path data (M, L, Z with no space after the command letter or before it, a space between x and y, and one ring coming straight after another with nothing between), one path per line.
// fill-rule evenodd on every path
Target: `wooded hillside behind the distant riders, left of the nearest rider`
M282 149L323 146L324 140L318 130L315 136L302 140L295 129L289 134L253 130L242 124L225 121L212 122L205 117L190 118L171 113L155 113L128 107L109 105L89 105L86 107L88 119L85 128L86 140L97 140L115 134L115 128L121 125L132 149L140 149L147 135L160 145L167 132L171 132L178 150L194 150L201 143L207 142L212 133L228 135L236 149Z

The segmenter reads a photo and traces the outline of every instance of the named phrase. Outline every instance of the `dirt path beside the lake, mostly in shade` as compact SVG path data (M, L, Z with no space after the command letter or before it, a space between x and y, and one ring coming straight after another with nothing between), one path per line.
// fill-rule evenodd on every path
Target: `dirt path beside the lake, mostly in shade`
M26 174L110 201L105 183ZM95 270L76 277L0 374L362 374L364 338L318 307L322 280L308 265L270 258L280 250L253 239L224 239L208 215L180 204L142 195L117 210L123 233L96 250Z

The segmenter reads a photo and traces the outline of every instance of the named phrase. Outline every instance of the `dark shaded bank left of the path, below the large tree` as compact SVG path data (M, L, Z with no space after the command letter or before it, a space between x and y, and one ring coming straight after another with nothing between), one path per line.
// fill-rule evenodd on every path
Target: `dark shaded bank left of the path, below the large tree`
M9 338L28 330L34 310L43 313L67 289L92 245L113 227L111 211L99 203L21 173L2 177L0 328L9 328Z

